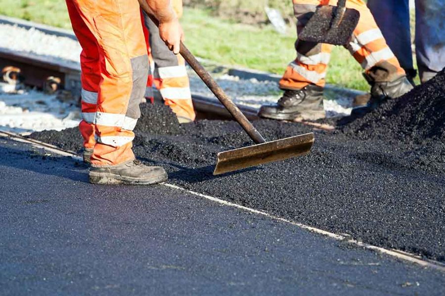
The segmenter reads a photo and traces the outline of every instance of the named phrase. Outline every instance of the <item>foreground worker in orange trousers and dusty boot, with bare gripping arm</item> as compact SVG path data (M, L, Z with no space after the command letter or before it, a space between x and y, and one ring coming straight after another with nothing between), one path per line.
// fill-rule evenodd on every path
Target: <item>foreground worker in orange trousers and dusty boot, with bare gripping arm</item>
M159 20L160 37L179 53L182 29L170 0L146 0ZM84 157L93 184L162 182L161 167L135 160L133 129L148 77L148 54L137 0L66 0L82 46Z

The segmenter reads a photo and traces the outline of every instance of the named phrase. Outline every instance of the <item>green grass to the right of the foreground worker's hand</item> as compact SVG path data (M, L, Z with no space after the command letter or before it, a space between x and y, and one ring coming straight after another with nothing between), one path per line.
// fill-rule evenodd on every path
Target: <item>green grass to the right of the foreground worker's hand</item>
M197 9L185 9L182 24L190 50L217 63L282 74L295 59L295 34L281 36L271 26L231 23ZM346 49L334 48L329 66L328 83L368 89L361 67Z

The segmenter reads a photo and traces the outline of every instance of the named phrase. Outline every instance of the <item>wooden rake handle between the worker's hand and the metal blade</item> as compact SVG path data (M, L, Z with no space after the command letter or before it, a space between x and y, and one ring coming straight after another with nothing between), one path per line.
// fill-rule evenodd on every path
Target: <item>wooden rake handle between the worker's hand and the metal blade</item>
M225 109L232 114L236 121L243 127L249 137L256 143L262 144L266 143L263 136L256 130L249 119L244 116L244 114L239 110L238 107L230 100L230 98L224 93L223 89L218 85L218 83L212 78L212 76L202 67L202 65L196 60L193 54L185 47L184 43L181 42L181 47L179 53L187 61L190 67L198 74L198 76L204 81L204 83L209 87L209 89L214 93L214 95L220 100L221 104L224 105Z

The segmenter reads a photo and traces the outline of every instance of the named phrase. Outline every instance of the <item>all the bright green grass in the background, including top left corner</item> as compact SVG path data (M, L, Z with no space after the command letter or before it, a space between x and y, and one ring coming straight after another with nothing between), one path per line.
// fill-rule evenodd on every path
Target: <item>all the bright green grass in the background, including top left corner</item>
M63 0L2 0L0 14L69 29ZM186 44L201 58L282 74L295 58L295 33L277 34L271 26L253 26L212 17L209 11L185 8L182 25ZM292 30L293 31L293 30ZM326 78L328 83L367 90L361 68L344 48L336 47Z

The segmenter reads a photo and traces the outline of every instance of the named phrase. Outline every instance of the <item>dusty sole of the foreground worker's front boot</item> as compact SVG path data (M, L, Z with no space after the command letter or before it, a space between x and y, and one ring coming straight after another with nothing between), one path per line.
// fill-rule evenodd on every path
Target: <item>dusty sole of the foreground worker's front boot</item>
M89 183L101 185L152 185L164 182L168 179L167 173L152 177L150 179L137 179L130 177L123 177L114 174L92 173L89 172Z

